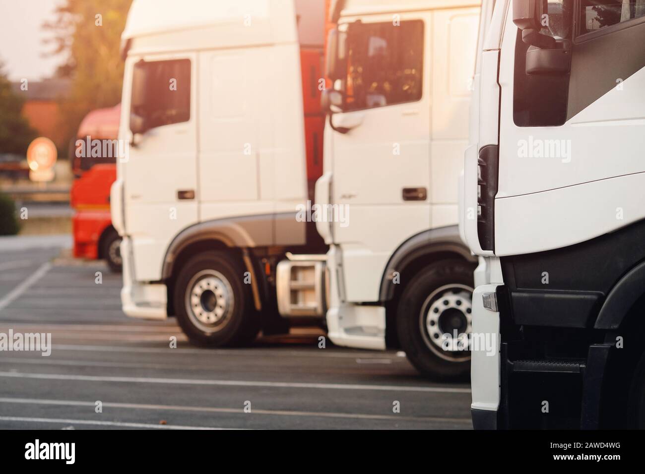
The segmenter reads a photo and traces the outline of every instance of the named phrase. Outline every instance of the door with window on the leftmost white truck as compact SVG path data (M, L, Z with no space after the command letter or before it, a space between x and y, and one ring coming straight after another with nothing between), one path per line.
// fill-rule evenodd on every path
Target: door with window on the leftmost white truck
M132 81L126 83L130 103L123 104L127 120L121 134L131 143L122 165L125 229L139 281L161 278L168 244L197 222L195 59L144 55L126 63Z

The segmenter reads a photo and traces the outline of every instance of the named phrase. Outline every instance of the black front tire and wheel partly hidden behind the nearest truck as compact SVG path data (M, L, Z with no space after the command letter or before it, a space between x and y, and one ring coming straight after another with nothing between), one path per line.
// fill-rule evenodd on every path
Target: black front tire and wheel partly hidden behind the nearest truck
M396 315L399 342L428 379L468 378L470 351L458 343L463 341L459 335L471 331L474 269L461 260L433 263L417 273L401 295Z

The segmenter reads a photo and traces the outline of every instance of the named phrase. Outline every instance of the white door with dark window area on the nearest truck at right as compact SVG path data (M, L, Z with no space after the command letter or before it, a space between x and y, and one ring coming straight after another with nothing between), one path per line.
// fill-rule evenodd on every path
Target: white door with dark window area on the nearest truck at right
M549 0L542 18L539 46L511 13L502 40L497 255L645 217L645 1Z

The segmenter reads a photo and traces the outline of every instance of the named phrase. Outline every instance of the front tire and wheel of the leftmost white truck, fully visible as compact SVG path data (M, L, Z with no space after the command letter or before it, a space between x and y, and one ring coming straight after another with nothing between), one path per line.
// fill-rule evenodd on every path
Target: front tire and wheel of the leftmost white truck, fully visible
M243 279L243 266L224 252L199 253L183 265L174 288L175 315L192 344L239 346L255 339L258 315Z

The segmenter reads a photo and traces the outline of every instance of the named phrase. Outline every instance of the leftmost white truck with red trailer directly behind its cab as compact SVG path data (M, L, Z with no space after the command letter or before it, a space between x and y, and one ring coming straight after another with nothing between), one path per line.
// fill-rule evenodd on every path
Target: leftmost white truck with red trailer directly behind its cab
M286 261L290 288L324 294L307 280L320 260L303 255L327 247L298 213L322 172L324 8L132 3L119 129L130 146L112 186L127 315L176 316L190 341L207 346L244 344L299 318L322 324L289 291L293 317L282 319L276 279Z

